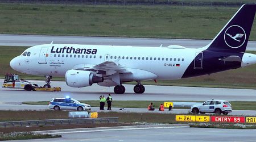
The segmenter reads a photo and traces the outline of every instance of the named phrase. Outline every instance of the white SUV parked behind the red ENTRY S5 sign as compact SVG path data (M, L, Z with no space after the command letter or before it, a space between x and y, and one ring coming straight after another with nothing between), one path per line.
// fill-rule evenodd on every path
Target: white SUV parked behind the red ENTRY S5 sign
M227 115L229 112L232 112L232 105L229 101L212 99L202 104L191 106L191 112L193 114L199 114L199 112L200 114L205 114L207 112Z

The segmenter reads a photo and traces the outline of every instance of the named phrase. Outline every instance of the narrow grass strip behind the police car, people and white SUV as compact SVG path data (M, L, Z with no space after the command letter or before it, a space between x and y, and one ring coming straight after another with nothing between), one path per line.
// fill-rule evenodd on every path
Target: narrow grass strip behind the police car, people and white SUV
M99 101L80 101L81 103L87 103L92 107L98 107ZM159 108L163 102L199 102L199 101L113 101L112 107L121 108L147 108L152 102L155 108ZM28 105L48 105L49 101L39 102L23 102ZM256 110L256 102L253 101L232 101L232 110ZM176 108L176 107L174 107ZM186 107L183 107L186 108Z

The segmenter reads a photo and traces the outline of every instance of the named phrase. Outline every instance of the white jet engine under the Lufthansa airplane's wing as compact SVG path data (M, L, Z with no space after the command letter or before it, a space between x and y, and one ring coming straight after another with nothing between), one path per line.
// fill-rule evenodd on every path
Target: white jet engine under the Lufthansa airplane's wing
M86 87L93 83L103 82L103 77L98 77L93 72L85 70L68 70L65 78L67 85L71 87Z

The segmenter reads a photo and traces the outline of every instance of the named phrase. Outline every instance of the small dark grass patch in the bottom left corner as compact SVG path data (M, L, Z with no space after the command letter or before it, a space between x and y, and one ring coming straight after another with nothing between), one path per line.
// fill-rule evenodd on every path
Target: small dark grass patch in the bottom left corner
M61 137L61 135L49 135L39 134L33 132L11 132L11 133L0 133L1 140L29 140L29 139L47 139Z

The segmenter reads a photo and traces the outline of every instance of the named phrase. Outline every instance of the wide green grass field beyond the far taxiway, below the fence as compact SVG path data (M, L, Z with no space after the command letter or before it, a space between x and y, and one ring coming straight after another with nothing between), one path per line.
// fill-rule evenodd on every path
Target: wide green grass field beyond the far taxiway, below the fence
M213 39L238 9L0 4L0 33ZM256 40L255 24L250 40Z

